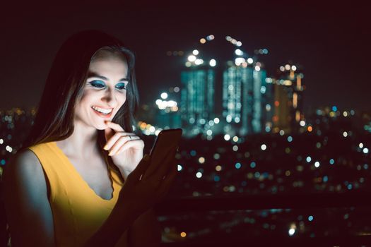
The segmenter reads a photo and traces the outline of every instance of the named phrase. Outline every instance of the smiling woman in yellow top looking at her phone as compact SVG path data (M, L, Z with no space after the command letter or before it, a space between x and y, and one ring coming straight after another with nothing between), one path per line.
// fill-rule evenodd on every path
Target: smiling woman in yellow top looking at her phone
M96 30L64 42L30 136L4 171L13 246L158 245L151 207L175 179L176 151L152 166L143 157L137 105L122 42Z

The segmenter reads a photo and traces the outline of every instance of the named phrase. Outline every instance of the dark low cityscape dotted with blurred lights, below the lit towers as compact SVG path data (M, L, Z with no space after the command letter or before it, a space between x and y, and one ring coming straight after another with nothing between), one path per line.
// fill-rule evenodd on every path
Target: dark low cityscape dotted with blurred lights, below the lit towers
M354 112L332 110L336 113L317 112L300 133L183 138L175 156L178 179L170 191L170 198L178 203L170 200L170 205L169 201L160 205L162 241L202 243L204 237L214 241L222 237L230 243L236 237L254 236L245 241L254 243L270 236L280 243L292 237L300 243L307 237L323 243L331 237L339 241L355 236L353 241L369 243L363 238L370 236L367 204L363 198L355 202L351 195L367 197L370 191L370 131L353 125L370 126L370 116L360 121ZM10 112L0 112L4 123L0 126L0 176L20 150L35 116L21 109ZM143 140L153 143L155 135L143 133ZM148 152L150 145L146 146ZM277 196L284 208L277 207ZM189 207L185 198L192 198L196 207L192 203ZM206 198L224 199L213 205L209 202L206 208ZM298 207L304 205L303 199L309 208ZM233 210L237 200L238 208L243 205L244 210ZM199 211L200 207L206 210ZM184 208L189 211L179 211ZM344 244L343 239L340 242Z

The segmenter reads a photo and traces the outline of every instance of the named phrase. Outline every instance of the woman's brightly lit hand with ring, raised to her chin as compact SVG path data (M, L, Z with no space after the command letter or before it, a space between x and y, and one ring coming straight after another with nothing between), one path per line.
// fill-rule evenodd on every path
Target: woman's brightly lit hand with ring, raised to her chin
M119 167L122 176L126 179L143 158L143 140L134 133L125 132L117 123L111 121L105 121L105 123L107 124L105 129L107 143L104 149L109 151L108 155L112 157L112 161Z

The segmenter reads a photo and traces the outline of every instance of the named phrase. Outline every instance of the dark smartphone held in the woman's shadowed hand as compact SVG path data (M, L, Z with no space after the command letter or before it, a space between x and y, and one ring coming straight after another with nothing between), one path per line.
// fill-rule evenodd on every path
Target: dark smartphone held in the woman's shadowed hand
M161 162L169 150L179 149L179 141L182 137L181 128L170 128L158 133L155 143L151 148L150 156L153 162Z

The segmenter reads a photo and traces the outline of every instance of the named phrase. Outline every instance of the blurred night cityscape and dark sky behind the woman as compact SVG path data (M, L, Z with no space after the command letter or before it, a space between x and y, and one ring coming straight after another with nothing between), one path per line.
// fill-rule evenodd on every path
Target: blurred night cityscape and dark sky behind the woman
M361 1L11 4L1 27L0 174L74 32L136 54L146 152L182 128L164 246L370 243L370 25Z

